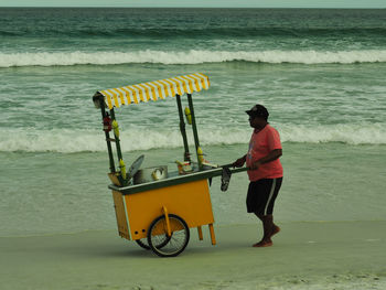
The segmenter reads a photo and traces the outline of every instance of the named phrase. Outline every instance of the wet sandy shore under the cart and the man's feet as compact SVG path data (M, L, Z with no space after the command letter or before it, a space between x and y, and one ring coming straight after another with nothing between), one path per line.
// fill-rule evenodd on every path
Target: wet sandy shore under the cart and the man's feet
M0 238L0 289L385 289L386 222L281 224L269 248L257 226L215 226L160 258L116 230ZM260 230L260 228L258 228Z

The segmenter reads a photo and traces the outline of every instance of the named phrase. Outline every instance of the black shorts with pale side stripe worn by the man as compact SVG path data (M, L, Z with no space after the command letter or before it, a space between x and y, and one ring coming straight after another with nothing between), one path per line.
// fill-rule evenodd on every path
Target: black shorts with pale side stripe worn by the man
M247 211L257 215L271 215L275 200L278 196L282 178L265 179L249 183Z

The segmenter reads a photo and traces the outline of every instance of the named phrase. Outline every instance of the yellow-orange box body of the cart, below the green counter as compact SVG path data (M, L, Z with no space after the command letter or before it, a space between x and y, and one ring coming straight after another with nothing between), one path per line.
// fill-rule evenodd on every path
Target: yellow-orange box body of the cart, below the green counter
M118 232L127 239L141 239L148 235L149 225L158 216L169 213L181 216L190 228L214 223L207 180L124 195L112 191ZM201 235L200 235L201 236ZM215 236L211 229L212 244ZM202 236L201 236L202 238Z

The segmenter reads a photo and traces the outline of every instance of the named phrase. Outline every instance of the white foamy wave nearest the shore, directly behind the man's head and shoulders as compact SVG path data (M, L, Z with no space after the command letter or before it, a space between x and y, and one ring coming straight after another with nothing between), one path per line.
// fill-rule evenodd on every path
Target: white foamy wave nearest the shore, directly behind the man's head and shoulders
M278 125L282 142L326 143L343 142L347 144L386 144L384 123L372 125L335 125L335 126L299 126ZM2 152L101 152L106 151L104 133L90 130L35 130L0 129L0 151ZM200 129L200 141L203 146L238 144L248 142L250 131L245 128L230 128L227 131ZM136 140L136 142L132 142ZM193 137L189 136L191 146ZM121 132L121 149L125 152L151 150L157 148L182 147L179 131L160 131L156 129L131 128Z

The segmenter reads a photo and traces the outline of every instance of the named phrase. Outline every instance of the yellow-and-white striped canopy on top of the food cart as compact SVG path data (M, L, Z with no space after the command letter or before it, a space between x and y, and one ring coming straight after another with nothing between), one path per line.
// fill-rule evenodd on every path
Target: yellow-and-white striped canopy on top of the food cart
M182 96L183 94L192 94L203 88L208 89L210 79L204 74L192 74L176 76L167 79L160 79L126 87L110 88L97 92L94 96L95 106L99 108L99 101L95 101L96 97L103 96L105 104L109 109L120 107L122 105L139 104L141 101L164 99L165 97Z

